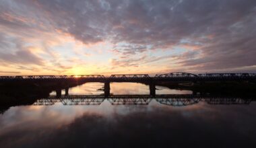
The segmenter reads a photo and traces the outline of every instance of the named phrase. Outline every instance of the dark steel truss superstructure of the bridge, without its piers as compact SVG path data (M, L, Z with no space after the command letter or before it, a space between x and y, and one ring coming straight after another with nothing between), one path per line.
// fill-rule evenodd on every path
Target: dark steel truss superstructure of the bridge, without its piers
M123 74L123 75L18 75L0 76L0 81L21 80L84 80L84 81L224 81L224 80L256 80L256 73L165 73L150 77L148 74Z

